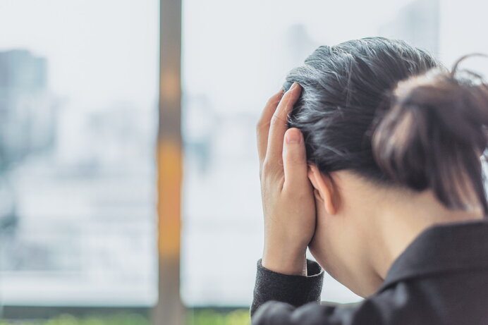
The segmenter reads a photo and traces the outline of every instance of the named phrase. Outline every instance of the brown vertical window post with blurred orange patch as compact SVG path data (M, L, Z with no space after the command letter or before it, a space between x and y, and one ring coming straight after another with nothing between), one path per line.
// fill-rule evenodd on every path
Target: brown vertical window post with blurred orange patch
M160 0L159 133L157 211L159 299L155 325L183 325L180 298L181 183L181 0Z

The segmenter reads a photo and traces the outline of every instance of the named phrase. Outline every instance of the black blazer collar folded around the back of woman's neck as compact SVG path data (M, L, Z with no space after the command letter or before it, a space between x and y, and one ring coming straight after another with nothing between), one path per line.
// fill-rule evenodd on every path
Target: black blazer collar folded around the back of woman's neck
M408 278L488 269L488 218L425 229L391 265L382 291Z

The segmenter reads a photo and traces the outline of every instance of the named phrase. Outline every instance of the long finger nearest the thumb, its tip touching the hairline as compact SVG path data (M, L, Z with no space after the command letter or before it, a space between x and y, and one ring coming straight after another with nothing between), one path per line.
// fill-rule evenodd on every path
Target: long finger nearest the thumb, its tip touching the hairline
M283 94L283 98L276 107L274 114L269 123L269 136L267 143L266 159L270 161L279 161L283 153L283 137L285 135L288 125L286 121L288 114L290 114L293 105L300 97L302 87L298 82L293 82L291 88Z

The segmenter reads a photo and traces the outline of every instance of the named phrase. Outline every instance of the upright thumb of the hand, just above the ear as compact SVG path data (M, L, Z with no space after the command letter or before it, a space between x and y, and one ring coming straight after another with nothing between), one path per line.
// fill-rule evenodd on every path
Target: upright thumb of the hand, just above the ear
M303 135L298 128L286 130L283 139L283 188L301 188L308 183L307 152Z

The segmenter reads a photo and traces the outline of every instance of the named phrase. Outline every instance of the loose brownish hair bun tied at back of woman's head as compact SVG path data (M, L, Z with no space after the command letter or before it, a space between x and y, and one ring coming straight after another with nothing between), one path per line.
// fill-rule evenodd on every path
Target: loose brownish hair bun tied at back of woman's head
M480 156L488 145L488 85L433 68L398 82L372 137L374 159L396 183L432 188L447 207L487 208ZM482 195L483 194L483 195ZM483 196L483 197L481 197ZM485 210L486 211L486 210Z

